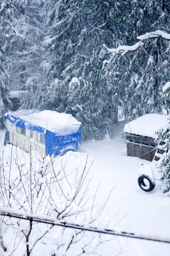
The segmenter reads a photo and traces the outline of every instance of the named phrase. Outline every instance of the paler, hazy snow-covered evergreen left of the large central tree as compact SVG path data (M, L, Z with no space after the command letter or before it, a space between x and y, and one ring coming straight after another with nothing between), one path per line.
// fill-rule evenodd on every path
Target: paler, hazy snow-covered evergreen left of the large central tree
M45 36L45 3L45 0L23 1L10 19L13 29L8 35L6 68L10 73L10 88L27 90L22 108L38 108L43 95L41 42Z

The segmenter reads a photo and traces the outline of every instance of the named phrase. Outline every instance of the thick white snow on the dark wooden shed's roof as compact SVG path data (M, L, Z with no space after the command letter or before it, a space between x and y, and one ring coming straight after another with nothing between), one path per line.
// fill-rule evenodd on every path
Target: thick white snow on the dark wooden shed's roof
M155 138L155 132L166 125L167 118L167 115L143 115L127 123L124 127L124 132Z

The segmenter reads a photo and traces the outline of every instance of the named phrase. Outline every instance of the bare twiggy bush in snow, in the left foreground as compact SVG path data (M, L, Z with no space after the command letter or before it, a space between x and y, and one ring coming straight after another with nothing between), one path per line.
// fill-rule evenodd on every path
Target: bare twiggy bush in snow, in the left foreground
M0 162L0 207L106 227L106 202L96 205L96 195L88 194L92 161L84 154L42 157L7 145ZM1 244L5 255L13 256L101 255L101 235L7 216L1 217Z

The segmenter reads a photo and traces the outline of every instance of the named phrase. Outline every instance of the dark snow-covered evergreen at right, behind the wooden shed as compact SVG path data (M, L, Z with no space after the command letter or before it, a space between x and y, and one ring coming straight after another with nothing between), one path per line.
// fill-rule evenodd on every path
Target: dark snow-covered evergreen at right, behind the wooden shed
M129 6L124 45L134 45L137 36L157 29L169 33L168 1L131 1ZM168 111L168 105L161 100L162 86L170 78L168 51L169 40L160 36L148 38L136 51L108 60L106 76L117 86L117 104L125 118Z

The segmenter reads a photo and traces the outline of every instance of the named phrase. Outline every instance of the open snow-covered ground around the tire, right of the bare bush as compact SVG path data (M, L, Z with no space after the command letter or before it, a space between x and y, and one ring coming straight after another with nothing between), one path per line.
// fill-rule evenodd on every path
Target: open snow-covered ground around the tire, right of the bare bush
M170 239L170 199L160 191L161 184L157 180L155 189L150 193L139 188L137 179L141 163L150 162L126 155L123 128L124 122L120 122L113 140L82 143L80 152L74 152L73 158L88 155L90 161L94 159L89 172L93 176L89 193L95 193L100 183L98 202L107 198L114 188L105 211L111 228ZM3 141L4 131L1 130L0 134ZM155 176L159 177L159 174L155 173ZM170 244L124 237L115 237L110 242L110 248L115 251L111 255L169 256L170 253ZM110 255L110 248L104 249L104 256Z

